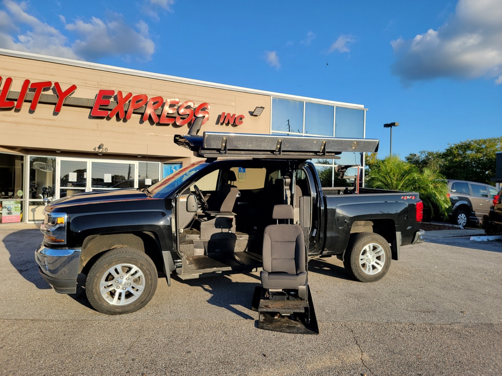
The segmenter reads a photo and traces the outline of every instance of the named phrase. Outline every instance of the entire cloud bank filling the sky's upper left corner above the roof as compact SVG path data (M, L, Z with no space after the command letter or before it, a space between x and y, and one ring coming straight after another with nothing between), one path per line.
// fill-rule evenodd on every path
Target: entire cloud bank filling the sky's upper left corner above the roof
M0 11L0 48L58 56L77 60L97 60L105 56L150 60L155 44L149 36L148 25L140 21L136 29L124 22L120 15L102 21L93 17L90 22L77 20L65 29L78 38L71 44L62 31L30 15L27 3L4 0L5 11ZM23 29L23 34L15 33ZM64 31L64 30L63 30Z

